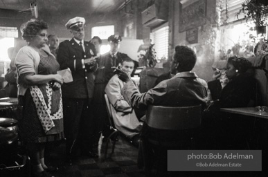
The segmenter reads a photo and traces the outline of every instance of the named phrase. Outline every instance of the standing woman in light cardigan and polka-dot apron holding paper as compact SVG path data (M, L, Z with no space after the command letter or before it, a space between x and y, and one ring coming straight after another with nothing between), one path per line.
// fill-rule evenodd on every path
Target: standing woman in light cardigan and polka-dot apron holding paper
M60 89L63 78L57 75L60 65L46 45L47 29L42 20L28 21L22 35L28 46L21 48L15 59L22 107L19 133L35 176L51 176L51 167L44 163L46 143L64 138Z

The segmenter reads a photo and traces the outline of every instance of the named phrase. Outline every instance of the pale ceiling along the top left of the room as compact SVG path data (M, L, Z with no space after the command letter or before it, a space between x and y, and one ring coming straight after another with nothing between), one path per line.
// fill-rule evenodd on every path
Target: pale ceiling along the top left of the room
M36 3L38 13L48 15L93 15L115 12L126 0L0 0L0 9L30 13Z

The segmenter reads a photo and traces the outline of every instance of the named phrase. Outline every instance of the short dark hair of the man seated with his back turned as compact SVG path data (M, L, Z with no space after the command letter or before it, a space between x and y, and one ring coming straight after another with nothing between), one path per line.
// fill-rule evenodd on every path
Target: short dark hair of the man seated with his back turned
M174 59L181 71L191 71L197 62L195 52L188 46L176 46Z

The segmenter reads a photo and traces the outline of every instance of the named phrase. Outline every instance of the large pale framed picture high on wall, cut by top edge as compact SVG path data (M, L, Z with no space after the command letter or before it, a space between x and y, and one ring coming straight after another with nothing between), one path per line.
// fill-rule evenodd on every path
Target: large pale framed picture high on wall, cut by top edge
M206 0L181 1L179 3L179 32L204 24L206 24Z

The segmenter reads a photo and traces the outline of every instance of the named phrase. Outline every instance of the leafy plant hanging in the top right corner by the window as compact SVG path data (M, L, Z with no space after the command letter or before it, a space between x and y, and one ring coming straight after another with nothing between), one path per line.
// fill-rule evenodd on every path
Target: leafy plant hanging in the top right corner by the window
M262 15L268 13L268 1L267 0L245 0L242 3L242 8L238 12L238 15L243 12L245 19L253 19L253 22L256 24L256 30L265 33L265 26L267 22L262 18Z

